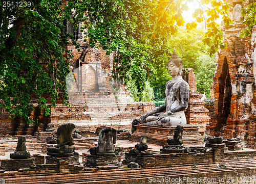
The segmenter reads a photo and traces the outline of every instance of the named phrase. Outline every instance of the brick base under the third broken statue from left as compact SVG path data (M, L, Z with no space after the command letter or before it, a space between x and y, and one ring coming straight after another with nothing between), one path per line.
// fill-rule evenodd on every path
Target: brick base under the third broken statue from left
M106 165L116 165L120 164L118 155L109 155L109 156L100 156L100 155L91 155L83 153L83 166L84 167L97 167L97 166L106 166Z

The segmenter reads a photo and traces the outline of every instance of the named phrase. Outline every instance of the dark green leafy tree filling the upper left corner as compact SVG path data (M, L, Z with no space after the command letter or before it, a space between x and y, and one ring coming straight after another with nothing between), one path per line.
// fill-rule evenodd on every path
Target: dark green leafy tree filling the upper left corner
M18 2L18 1L15 1ZM0 107L27 122L33 110L31 95L50 114L46 94L55 105L59 92L66 98L65 76L71 57L63 20L62 1L34 1L34 7L0 2ZM75 42L74 42L75 43ZM66 56L64 56L66 54Z

